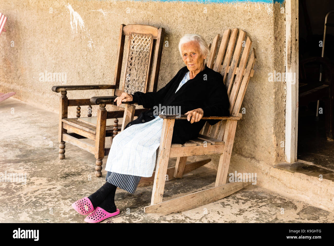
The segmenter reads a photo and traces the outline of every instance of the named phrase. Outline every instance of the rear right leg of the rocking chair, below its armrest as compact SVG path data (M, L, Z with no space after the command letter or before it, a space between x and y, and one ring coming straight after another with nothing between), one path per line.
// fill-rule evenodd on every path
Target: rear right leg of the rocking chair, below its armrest
M237 120L226 120L226 127L224 133L225 147L224 152L220 154L217 177L214 184L215 187L226 183L229 162L232 154L236 124Z

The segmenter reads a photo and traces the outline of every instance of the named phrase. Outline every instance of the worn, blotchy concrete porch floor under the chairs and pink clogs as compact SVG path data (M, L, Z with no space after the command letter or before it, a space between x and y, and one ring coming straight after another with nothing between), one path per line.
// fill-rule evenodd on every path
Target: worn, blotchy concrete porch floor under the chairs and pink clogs
M0 113L0 173L27 175L26 184L0 182L0 223L83 222L85 216L77 214L71 203L93 193L105 182L94 175L94 156L66 144L66 158L59 160L55 113L13 98L0 103ZM105 177L106 171L102 174ZM215 170L201 167L182 179L168 181L164 198L211 187L215 175ZM151 190L152 186L140 187L132 195L118 189L115 203L121 214L103 223L334 222L333 212L257 185L248 185L224 199L182 213L145 214L143 208L150 203Z

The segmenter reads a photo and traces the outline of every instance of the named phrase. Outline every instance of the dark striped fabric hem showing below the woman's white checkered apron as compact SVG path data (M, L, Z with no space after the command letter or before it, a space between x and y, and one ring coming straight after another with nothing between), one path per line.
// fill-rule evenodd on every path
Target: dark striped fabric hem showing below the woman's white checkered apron
M121 174L115 172L107 172L106 181L120 189L126 190L131 194L135 193L141 176L134 176L129 174Z

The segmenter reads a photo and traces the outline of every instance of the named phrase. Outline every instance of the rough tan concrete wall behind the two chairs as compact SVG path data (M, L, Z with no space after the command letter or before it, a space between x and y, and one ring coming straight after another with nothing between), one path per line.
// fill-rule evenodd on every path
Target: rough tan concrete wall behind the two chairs
M140 2L5 0L8 17L0 36L1 92L58 112L54 81L40 81L44 71L66 73L67 85L110 84L114 79L119 25L164 27L165 40L158 89L184 65L178 41L199 33L208 42L227 28L240 28L253 40L257 61L238 123L233 153L273 165L284 159L284 82L268 82L268 73L284 72L285 14L279 3ZM108 95L111 91L69 91L69 98ZM85 107L82 107L84 111ZM93 108L93 116L96 114ZM75 108L70 110L74 116ZM217 160L214 159L213 167Z

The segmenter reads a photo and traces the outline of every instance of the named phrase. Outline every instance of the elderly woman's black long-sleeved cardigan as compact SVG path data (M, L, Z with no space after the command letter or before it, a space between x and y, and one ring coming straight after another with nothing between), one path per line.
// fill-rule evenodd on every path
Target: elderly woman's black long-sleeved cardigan
M229 101L221 74L205 65L203 71L199 72L195 78L188 80L175 93L186 72L188 72L188 69L184 66L167 85L157 92L135 92L132 95L132 102L137 102L139 105L143 105L144 108L150 108L150 110L138 117L137 120L130 122L129 125L154 119L154 116L152 116L153 107L159 107L159 104L161 106L181 106L181 114L202 108L203 116L229 116ZM198 137L205 121L201 119L191 124L186 119L176 119L172 143L183 144L189 139ZM212 126L219 120L207 121Z

